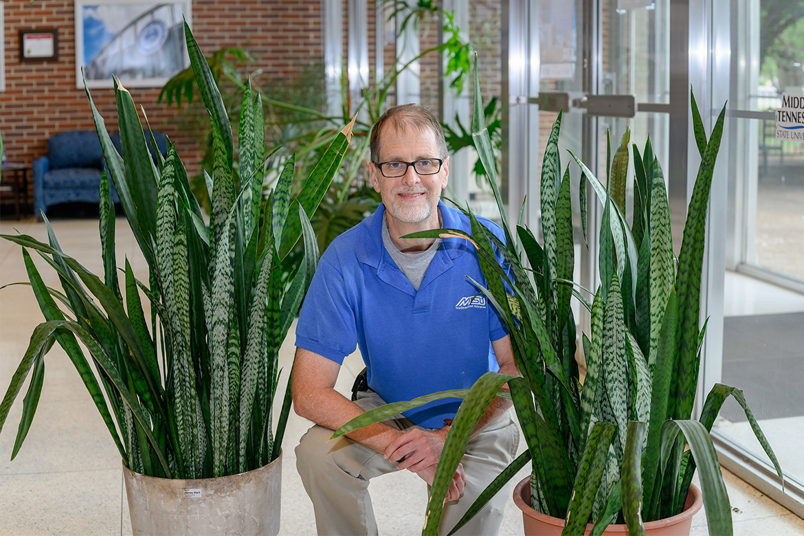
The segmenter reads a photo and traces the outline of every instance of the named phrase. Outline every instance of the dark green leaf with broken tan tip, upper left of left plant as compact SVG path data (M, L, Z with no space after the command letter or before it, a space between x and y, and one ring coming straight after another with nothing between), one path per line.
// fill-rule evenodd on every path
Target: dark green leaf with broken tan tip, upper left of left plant
M129 90L113 77L125 179L146 236L156 236L156 176L145 133ZM155 149L155 148L154 148Z

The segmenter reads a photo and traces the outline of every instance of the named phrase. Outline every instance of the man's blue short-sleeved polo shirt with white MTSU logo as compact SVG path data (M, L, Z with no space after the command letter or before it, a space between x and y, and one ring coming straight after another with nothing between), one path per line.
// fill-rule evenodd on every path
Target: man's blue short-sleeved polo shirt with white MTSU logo
M460 211L438 207L443 227L471 231ZM443 239L416 291L384 248L384 214L380 204L326 249L301 307L296 346L338 363L359 346L369 387L388 403L471 387L497 370L490 342L507 334L494 306L467 278L486 285L474 246ZM496 224L482 223L503 239ZM404 415L441 428L459 405L448 399Z

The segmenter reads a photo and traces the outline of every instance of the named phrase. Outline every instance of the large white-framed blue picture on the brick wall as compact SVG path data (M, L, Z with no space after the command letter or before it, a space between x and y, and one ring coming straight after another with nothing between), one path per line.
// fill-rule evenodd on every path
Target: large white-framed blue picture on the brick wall
M187 68L191 0L76 0L76 88L158 88Z

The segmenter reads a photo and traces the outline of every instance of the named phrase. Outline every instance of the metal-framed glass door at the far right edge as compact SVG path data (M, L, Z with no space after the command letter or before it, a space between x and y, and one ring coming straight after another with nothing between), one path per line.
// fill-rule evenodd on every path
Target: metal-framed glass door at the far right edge
M786 134L802 130L777 111L791 96L804 98L804 0L715 0L712 11L713 39L730 50L711 86L713 99L728 100L721 143L728 158L715 178L728 186L724 225L710 235L725 251L722 332L710 333L716 340L708 346L722 351L706 355L704 387L744 391L786 472L786 493L732 399L713 428L722 463L802 515L804 141Z

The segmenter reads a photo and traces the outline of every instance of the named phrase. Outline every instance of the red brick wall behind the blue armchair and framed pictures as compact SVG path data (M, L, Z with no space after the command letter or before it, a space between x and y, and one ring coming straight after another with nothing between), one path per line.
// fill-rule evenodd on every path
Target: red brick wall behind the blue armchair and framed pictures
M94 129L84 90L76 88L73 3L5 2L6 91L0 92L0 133L12 162L30 165L47 153L47 138L54 133ZM191 18L207 55L221 47L250 51L256 59L251 69L262 70L254 80L262 88L287 86L322 63L320 0L193 0ZM18 31L23 28L58 29L58 59L21 63ZM176 142L188 171L197 173L202 151L199 133L182 121L187 111L157 104L160 88L129 89L134 102L146 108L150 125ZM92 99L112 133L117 125L113 90L92 89Z

